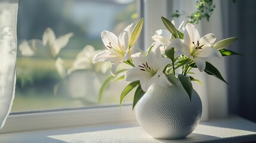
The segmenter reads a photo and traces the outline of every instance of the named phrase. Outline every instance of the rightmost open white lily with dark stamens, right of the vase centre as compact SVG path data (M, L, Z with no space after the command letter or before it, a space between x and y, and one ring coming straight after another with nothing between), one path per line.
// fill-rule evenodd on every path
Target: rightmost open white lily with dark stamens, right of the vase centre
M212 33L200 38L196 27L188 23L185 27L184 39L174 39L169 46L176 49L174 57L186 55L195 61L199 71L203 71L206 66L206 58L221 57L220 51L211 47L215 40Z

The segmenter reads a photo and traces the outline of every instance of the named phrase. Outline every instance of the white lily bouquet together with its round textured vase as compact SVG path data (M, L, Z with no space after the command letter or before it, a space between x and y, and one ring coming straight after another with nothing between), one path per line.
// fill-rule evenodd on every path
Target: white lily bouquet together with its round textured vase
M110 81L124 79L125 82L130 83L121 93L120 105L124 97L132 89L135 89L132 110L136 104L136 107L139 106L136 111L137 120L146 132L154 138L183 138L195 129L202 114L201 100L192 86L192 81L200 81L192 76L195 73L191 70L204 71L227 83L217 68L207 60L211 57L221 58L223 56L239 55L237 52L225 49L238 38L227 38L215 42L216 38L212 33L200 37L193 24L183 22L176 28L174 21L171 22L164 17L162 17L162 22L166 29L156 31L156 35L152 36L152 39L156 42L153 42L146 51L134 46L141 33L143 19L138 21L133 30L132 24L129 25L119 37L109 31L101 33L102 41L107 49L96 54L93 62L109 61L112 65L111 75L104 80L98 101L100 101L104 88ZM128 64L130 68L118 69L121 63ZM171 92L174 92L174 95L178 94L177 98L180 99L174 99L172 95L169 95ZM150 98L155 101L150 102ZM169 101L169 99L171 100ZM176 105L177 102L180 105ZM186 105L183 104L184 102L186 102ZM173 112L171 111L173 108L184 108L186 110ZM195 109L195 111L188 109ZM156 112L155 115L153 115L154 112ZM168 116L168 113L171 113L171 115ZM180 119L172 119L173 116L180 117ZM157 123L152 123L153 119L161 117L162 119L166 118L166 122L172 123L172 125L159 125L159 122L164 122L162 119L157 119ZM146 118L146 120L140 121L141 118ZM184 119L187 119L189 123L177 123L177 120ZM172 120L176 121L172 122ZM167 126L167 128L158 130L156 129L158 125L162 128ZM174 125L178 125L177 129ZM171 132L172 135L166 133L166 136L162 136L165 135L162 132L163 130ZM154 134L154 132L157 133Z

